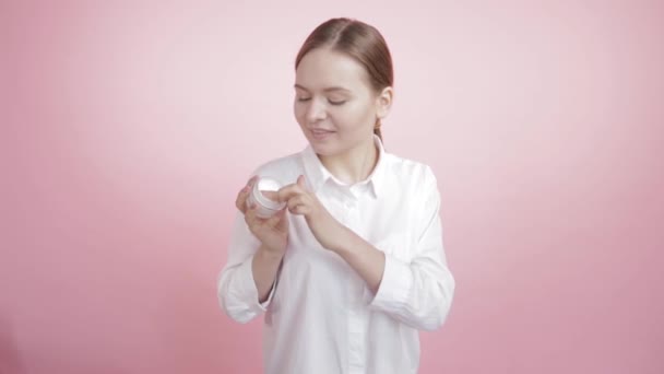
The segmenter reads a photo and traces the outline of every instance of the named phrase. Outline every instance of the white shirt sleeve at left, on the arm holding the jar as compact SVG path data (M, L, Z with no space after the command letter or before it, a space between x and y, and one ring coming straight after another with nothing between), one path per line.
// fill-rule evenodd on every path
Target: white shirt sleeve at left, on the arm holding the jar
M273 284L268 301L259 303L251 269L259 246L259 239L247 227L242 213L238 212L228 246L228 260L217 280L217 297L224 312L242 324L265 312L275 289Z

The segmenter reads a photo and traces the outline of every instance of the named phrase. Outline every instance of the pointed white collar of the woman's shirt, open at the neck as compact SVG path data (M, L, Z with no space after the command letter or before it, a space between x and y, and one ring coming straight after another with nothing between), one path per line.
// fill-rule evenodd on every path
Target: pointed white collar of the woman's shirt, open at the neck
M386 168L386 151L382 145L382 141L376 135L374 136L374 143L378 149L378 162L376 163L376 167L374 167L374 171L365 180L358 182L357 184L369 184L369 186L371 187L370 189L372 191L372 196L375 198L378 198L383 187L382 185ZM303 161L309 187L313 192L317 192L329 180L334 182L339 186L347 186L346 184L334 177L334 175L332 175L332 173L330 173L330 171L328 171L328 168L323 166L310 144L303 151Z

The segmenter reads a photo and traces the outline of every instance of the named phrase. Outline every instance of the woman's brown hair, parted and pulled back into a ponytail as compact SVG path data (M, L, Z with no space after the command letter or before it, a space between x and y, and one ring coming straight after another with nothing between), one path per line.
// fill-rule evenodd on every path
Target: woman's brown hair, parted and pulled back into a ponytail
M316 48L328 47L354 58L365 67L376 92L394 85L392 56L386 39L376 27L351 19L332 19L316 27L307 37L295 59L295 69L305 55ZM380 118L374 133L382 140Z

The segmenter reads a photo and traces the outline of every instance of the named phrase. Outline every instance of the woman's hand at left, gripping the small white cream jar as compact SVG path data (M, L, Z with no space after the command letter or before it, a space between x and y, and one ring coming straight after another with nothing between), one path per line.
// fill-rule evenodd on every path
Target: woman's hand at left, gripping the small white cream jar
M258 177L252 177L237 195L235 206L245 214L245 222L249 231L263 244L263 247L273 255L283 256L288 244L288 217L287 208L280 210L269 219L257 215L257 207L247 207L247 198L251 194L253 184Z

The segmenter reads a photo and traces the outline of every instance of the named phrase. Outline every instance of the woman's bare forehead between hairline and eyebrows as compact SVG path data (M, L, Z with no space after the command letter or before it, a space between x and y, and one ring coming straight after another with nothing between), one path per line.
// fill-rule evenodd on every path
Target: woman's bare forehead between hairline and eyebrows
M369 89L368 74L361 63L343 52L325 48L305 55L295 71L295 84L315 91L331 86L352 91Z

